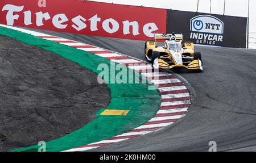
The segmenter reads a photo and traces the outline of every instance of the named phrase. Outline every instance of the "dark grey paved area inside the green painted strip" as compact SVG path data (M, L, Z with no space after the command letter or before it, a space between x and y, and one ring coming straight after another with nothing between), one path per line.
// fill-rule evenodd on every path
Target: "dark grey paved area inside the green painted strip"
M109 104L97 75L55 53L0 36L0 151L54 140Z

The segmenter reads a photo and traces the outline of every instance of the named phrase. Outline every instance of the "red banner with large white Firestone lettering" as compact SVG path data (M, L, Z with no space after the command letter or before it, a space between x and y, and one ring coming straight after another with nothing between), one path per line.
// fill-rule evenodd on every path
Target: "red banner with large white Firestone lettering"
M11 26L133 40L166 32L164 9L79 0L1 0L0 9Z

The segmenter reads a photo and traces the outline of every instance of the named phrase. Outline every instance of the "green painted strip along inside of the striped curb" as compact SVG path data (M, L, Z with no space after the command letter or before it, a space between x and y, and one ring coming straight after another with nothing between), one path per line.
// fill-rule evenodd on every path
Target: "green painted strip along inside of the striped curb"
M0 27L0 35L8 36L21 41L22 43L30 44L56 53L67 60L76 62L76 64L86 69L92 70L92 72L96 74L101 72L97 69L99 64L107 64L108 66L110 66L110 64L115 64L106 58L92 53L81 51L59 43L54 43L53 41L44 40L39 37L8 28ZM115 66L116 65L117 64L115 64ZM126 68L126 66L123 66L123 68ZM114 74L117 73L118 72L114 72ZM133 73L137 72L133 71ZM134 80L141 80L144 78L139 73L137 73L137 75L139 78L135 78ZM59 139L47 141L46 151L65 151L67 149L80 147L82 145L94 143L125 133L131 129L141 126L143 123L146 123L156 114L161 103L158 90L148 90L149 85L152 86L150 83L108 84L107 86L110 89L111 99L107 109L129 109L129 115L101 116L100 112L105 109L101 108L96 114L96 116L98 116L96 120L93 120L86 124L86 126L69 133L68 135L60 137ZM137 98L127 98L127 96L124 98L122 97L124 94L139 96L137 96ZM38 145L33 145L31 147L15 149L13 152L36 152L38 151L38 148Z

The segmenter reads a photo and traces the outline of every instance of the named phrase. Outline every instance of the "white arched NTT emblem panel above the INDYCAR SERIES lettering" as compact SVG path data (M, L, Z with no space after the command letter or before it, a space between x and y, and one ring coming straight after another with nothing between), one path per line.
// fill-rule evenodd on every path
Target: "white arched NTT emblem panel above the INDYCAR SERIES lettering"
M223 34L224 23L212 15L199 15L191 19L190 30L209 34Z

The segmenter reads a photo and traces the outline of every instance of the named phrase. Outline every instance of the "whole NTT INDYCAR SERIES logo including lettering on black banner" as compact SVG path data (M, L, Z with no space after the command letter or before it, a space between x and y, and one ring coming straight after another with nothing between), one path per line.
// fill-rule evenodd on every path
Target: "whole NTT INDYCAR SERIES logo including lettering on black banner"
M215 45L223 41L224 23L212 15L199 15L191 19L190 31L196 44Z

